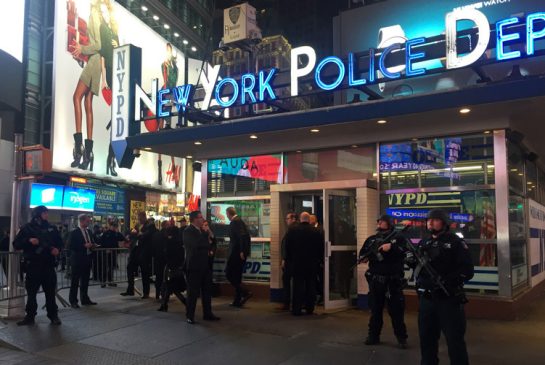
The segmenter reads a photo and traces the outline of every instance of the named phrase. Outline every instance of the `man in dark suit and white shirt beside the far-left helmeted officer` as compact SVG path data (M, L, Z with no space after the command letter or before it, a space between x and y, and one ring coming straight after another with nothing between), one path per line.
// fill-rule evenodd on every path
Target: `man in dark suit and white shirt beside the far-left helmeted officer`
M89 277L91 276L91 265L93 248L96 248L93 234L89 230L91 218L87 214L78 216L79 227L70 234L70 257L72 260L72 283L70 285L69 301L72 308L79 308L78 287L82 305L96 305L89 298Z

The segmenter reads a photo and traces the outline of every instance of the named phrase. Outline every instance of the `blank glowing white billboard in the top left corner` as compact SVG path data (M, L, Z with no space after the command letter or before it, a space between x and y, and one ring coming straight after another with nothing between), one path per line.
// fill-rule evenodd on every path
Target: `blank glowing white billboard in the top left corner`
M0 49L23 62L26 0L0 1Z

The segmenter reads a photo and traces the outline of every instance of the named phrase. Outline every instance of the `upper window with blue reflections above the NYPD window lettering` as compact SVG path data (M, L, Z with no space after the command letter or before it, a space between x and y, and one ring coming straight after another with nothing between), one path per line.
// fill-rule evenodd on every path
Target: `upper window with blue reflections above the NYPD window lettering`
M413 140L380 146L382 190L494 183L492 136Z

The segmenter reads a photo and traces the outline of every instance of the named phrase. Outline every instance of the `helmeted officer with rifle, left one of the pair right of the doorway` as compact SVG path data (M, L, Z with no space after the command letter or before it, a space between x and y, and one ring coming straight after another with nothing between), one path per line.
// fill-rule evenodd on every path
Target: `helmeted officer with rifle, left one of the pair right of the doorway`
M407 348L407 327L404 321L403 260L407 239L402 234L393 232L394 227L390 216L380 216L377 219L377 233L367 238L360 250L359 261L369 262L369 270L365 273L365 278L369 283L371 317L365 344L380 343L382 313L386 304L399 347L404 349Z

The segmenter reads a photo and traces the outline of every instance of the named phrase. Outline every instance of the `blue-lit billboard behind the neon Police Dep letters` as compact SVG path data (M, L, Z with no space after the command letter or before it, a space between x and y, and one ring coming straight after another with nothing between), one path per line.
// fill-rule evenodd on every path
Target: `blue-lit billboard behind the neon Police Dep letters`
M367 52L370 48L386 48L395 43L405 43L420 37L433 37L445 34L445 15L464 8L482 12L491 26L510 16L522 17L533 12L543 11L543 4L535 0L389 0L342 12L334 21L334 50L338 55L346 56L349 52ZM471 21L459 22L459 30L474 27ZM525 35L521 35L524 39ZM495 44L495 42L493 42ZM544 41L536 44L543 47ZM495 52L487 51L486 58L494 57ZM419 63L419 67L428 70L444 67L444 59L435 59ZM542 63L536 60L519 60L523 74L538 73ZM507 76L512 68L507 62L493 65L486 69L493 80ZM389 72L406 71L405 64L392 65ZM379 76L381 76L379 72ZM454 87L472 85L478 79L471 70L458 70L448 74L396 80L372 86L372 90L383 97L408 96L423 92L433 92ZM346 100L353 99L355 90L346 92ZM366 96L360 97L365 100Z

